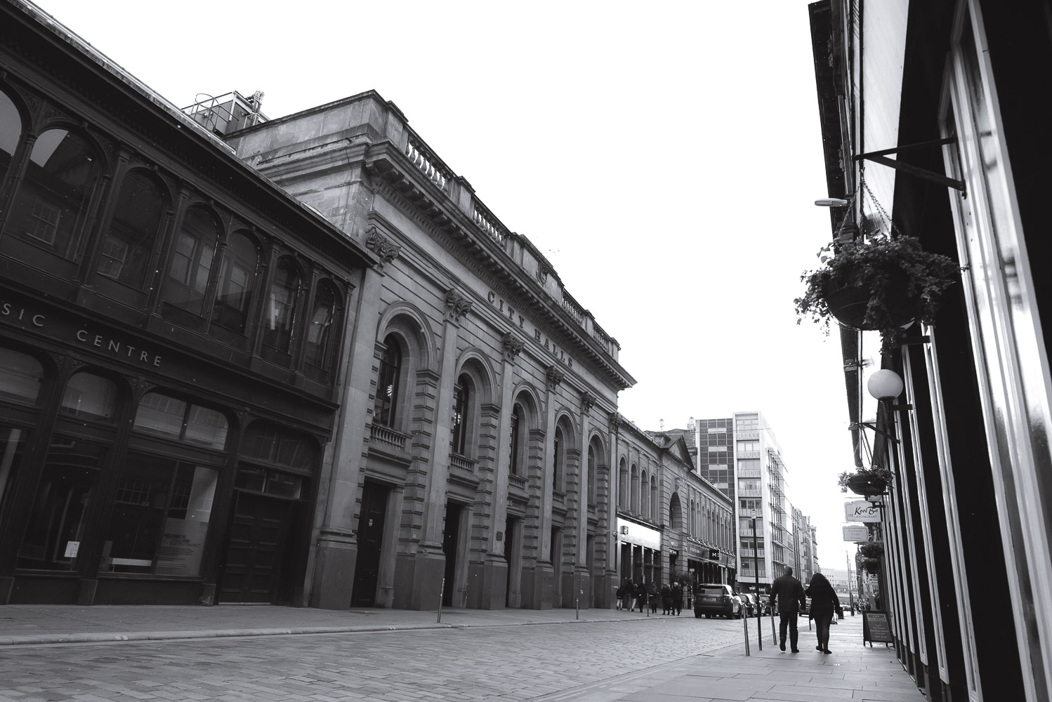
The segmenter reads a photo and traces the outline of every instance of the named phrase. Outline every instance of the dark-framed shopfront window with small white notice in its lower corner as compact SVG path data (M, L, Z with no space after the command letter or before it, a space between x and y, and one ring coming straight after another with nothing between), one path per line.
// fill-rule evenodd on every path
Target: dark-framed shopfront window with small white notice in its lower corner
M18 567L74 571L84 535L87 507L105 449L55 437L33 499L29 523L18 551Z

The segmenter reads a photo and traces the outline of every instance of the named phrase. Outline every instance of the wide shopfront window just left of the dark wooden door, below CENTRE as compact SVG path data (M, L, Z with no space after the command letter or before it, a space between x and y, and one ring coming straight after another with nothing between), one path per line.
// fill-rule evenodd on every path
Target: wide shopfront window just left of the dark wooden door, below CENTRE
M219 470L132 454L117 473L100 572L199 576Z

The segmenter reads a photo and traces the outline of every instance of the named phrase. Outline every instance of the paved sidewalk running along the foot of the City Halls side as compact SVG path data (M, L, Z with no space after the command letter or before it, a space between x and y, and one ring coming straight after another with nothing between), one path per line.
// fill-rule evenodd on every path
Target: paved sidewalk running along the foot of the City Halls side
M693 617L684 612L680 617ZM618 610L347 611L268 605L29 605L0 606L0 645L90 643L232 636L338 634L409 628L646 620ZM661 619L662 615L649 615Z

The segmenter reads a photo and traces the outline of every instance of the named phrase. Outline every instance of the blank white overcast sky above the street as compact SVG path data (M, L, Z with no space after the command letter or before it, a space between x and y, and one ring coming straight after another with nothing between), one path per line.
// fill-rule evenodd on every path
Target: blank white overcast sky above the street
M792 305L831 238L804 0L38 4L180 107L393 101L619 340L622 414L763 412L845 566L839 345Z

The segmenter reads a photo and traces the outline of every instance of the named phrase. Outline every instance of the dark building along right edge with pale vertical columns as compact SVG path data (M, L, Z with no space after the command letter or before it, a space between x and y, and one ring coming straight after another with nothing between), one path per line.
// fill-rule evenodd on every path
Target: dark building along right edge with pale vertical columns
M890 348L841 331L854 445L866 432L892 473L881 572L895 652L932 700L1048 702L1052 142L1035 105L1049 3L823 0L809 13L815 148L826 194L846 205L831 238L906 234L960 266L930 324ZM872 399L875 370L904 389Z

